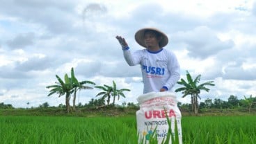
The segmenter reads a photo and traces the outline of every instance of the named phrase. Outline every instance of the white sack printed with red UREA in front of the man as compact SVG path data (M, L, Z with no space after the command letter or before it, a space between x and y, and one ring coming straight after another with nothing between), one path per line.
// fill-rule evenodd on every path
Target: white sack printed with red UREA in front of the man
M171 122L171 132L175 134L175 120L177 121L177 132L179 144L182 143L182 114L177 107L175 93L171 92L150 92L145 93L137 98L140 109L136 111L137 132L139 142L143 143L150 138L155 129L158 143L166 140L168 134L168 121ZM167 115L167 116L166 116ZM157 128L156 128L157 127ZM171 143L171 139L169 141Z

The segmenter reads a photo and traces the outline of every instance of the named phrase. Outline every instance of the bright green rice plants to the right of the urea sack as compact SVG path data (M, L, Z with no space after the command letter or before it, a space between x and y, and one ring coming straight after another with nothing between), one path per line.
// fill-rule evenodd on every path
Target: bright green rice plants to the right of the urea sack
M184 118L184 143L256 143L256 116Z

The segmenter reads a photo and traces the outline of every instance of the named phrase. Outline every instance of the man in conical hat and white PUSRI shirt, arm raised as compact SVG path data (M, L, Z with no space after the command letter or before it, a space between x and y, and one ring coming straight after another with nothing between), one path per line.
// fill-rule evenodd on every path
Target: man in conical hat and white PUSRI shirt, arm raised
M157 28L143 28L135 34L143 50L131 53L125 39L116 36L129 66L141 64L144 89L143 93L152 91L170 91L180 78L179 63L173 52L163 48L168 44L166 34Z

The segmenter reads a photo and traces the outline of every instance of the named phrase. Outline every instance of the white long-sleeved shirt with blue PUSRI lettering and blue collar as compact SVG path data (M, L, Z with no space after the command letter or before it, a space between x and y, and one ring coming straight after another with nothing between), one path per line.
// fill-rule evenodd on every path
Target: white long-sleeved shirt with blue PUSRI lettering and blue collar
M162 87L170 91L180 78L177 57L165 48L156 53L147 49L138 50L132 54L128 49L123 53L129 66L141 64L143 93L159 92Z

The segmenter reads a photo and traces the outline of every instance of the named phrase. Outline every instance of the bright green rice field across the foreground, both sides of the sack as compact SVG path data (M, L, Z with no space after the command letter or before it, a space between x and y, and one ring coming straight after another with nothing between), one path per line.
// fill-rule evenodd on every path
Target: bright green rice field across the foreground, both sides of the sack
M185 116L183 143L256 143L256 116ZM136 144L136 117L0 116L0 142Z

